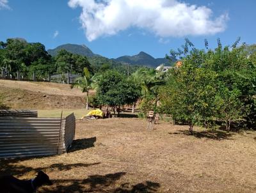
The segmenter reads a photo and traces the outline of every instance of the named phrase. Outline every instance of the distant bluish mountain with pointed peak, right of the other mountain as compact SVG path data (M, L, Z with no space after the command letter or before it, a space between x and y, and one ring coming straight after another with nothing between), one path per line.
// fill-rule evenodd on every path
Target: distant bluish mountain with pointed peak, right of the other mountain
M149 54L145 52L140 52L134 56L121 56L119 58L113 59L114 61L118 61L120 63L129 63L131 65L143 65L156 68L161 64L171 65L170 61L166 58L153 58ZM177 59L172 58L172 62L177 61Z

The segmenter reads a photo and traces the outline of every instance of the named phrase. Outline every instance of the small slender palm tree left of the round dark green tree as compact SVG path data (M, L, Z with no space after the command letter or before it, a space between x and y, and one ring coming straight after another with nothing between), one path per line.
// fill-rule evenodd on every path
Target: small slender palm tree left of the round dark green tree
M83 69L83 77L76 79L75 83L71 85L71 88L79 88L83 93L86 93L86 109L89 109L89 90L92 88L92 77L88 68Z

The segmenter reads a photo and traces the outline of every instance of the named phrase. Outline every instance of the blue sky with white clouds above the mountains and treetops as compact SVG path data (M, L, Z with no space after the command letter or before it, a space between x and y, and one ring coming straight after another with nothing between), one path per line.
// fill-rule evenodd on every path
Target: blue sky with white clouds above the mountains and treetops
M102 1L0 0L0 41L20 37L46 49L85 44L108 58L140 51L163 58L186 37L200 48L205 38L210 47L218 37L225 45L238 36L256 43L255 0Z

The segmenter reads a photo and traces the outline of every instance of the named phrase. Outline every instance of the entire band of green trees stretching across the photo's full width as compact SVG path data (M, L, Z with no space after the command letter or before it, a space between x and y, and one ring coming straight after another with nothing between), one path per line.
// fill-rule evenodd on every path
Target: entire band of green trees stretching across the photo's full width
M86 58L62 49L52 57L41 43L16 38L0 43L0 66L14 77L17 71L28 78L33 72L41 77L49 73L77 73L81 78L72 87L87 93L87 109L88 104L115 109L140 101L140 116L152 110L168 114L173 120L188 124L191 133L195 125L225 125L227 131L255 129L256 46L237 47L239 40L232 46L223 46L218 39L216 49L209 49L205 40L205 49L200 50L186 39L182 49L171 50L167 57L170 63L179 58L182 65L163 72L163 66L156 71L120 65L95 54ZM83 52L93 53L87 47L83 47ZM140 53L141 57L146 55ZM91 88L97 93L89 97Z

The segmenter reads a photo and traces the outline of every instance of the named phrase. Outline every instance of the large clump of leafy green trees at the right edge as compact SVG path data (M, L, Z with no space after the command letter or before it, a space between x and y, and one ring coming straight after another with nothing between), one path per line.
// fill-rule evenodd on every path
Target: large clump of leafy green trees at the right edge
M227 131L231 124L255 128L256 68L238 42L222 47L218 40L216 49L198 50L186 40L183 50L172 50L182 66L170 70L159 92L161 111L188 123L191 133L194 125L211 127L218 121Z

